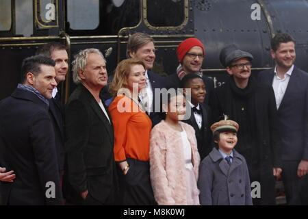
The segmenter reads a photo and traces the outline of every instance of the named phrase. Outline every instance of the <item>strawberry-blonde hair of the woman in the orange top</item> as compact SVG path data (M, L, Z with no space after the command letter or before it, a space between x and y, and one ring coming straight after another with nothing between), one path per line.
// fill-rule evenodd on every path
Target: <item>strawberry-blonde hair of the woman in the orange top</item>
M112 96L116 96L120 88L127 88L127 79L129 77L129 73L131 72L131 66L136 64L142 65L145 69L145 65L142 60L137 58L123 60L118 64L118 66L116 66L114 79L112 79L112 83L109 86L109 91Z

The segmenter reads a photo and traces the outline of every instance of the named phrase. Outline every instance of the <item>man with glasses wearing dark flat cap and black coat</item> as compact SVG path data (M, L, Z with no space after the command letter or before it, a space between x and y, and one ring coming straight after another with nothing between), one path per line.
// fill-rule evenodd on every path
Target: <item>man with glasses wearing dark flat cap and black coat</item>
M239 123L236 150L247 161L251 182L261 185L261 197L254 205L274 205L274 176L280 177L279 120L270 86L258 84L251 77L253 55L230 45L220 52L220 62L230 75L216 88L210 100L214 118L227 114Z

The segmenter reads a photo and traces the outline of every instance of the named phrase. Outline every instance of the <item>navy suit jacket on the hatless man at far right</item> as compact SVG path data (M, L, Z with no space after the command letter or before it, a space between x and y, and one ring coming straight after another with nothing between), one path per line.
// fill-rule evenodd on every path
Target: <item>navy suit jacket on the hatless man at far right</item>
M259 73L258 80L272 86L274 68ZM283 160L308 159L308 73L294 66L278 109Z

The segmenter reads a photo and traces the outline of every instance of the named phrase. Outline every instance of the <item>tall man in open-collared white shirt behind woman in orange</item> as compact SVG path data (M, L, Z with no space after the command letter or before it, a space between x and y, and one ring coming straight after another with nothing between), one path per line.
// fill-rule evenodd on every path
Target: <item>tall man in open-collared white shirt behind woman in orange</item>
M146 89L143 95L140 95L140 101L146 105L146 112L152 120L152 125L155 126L162 120L161 106L156 106L155 110L155 88L166 88L164 80L166 78L157 75L151 71L155 61L155 46L154 40L149 34L135 33L129 37L127 42L127 57L136 57L146 66ZM160 101L157 102L157 104ZM156 112L159 111L159 112Z

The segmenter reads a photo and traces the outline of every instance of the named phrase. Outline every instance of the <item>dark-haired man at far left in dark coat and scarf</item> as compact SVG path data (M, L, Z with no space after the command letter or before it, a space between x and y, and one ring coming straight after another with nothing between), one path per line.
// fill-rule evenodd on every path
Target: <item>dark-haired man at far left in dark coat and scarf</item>
M0 103L0 165L14 170L1 182L6 205L62 205L55 139L48 109L55 62L36 55L23 60L23 83Z

